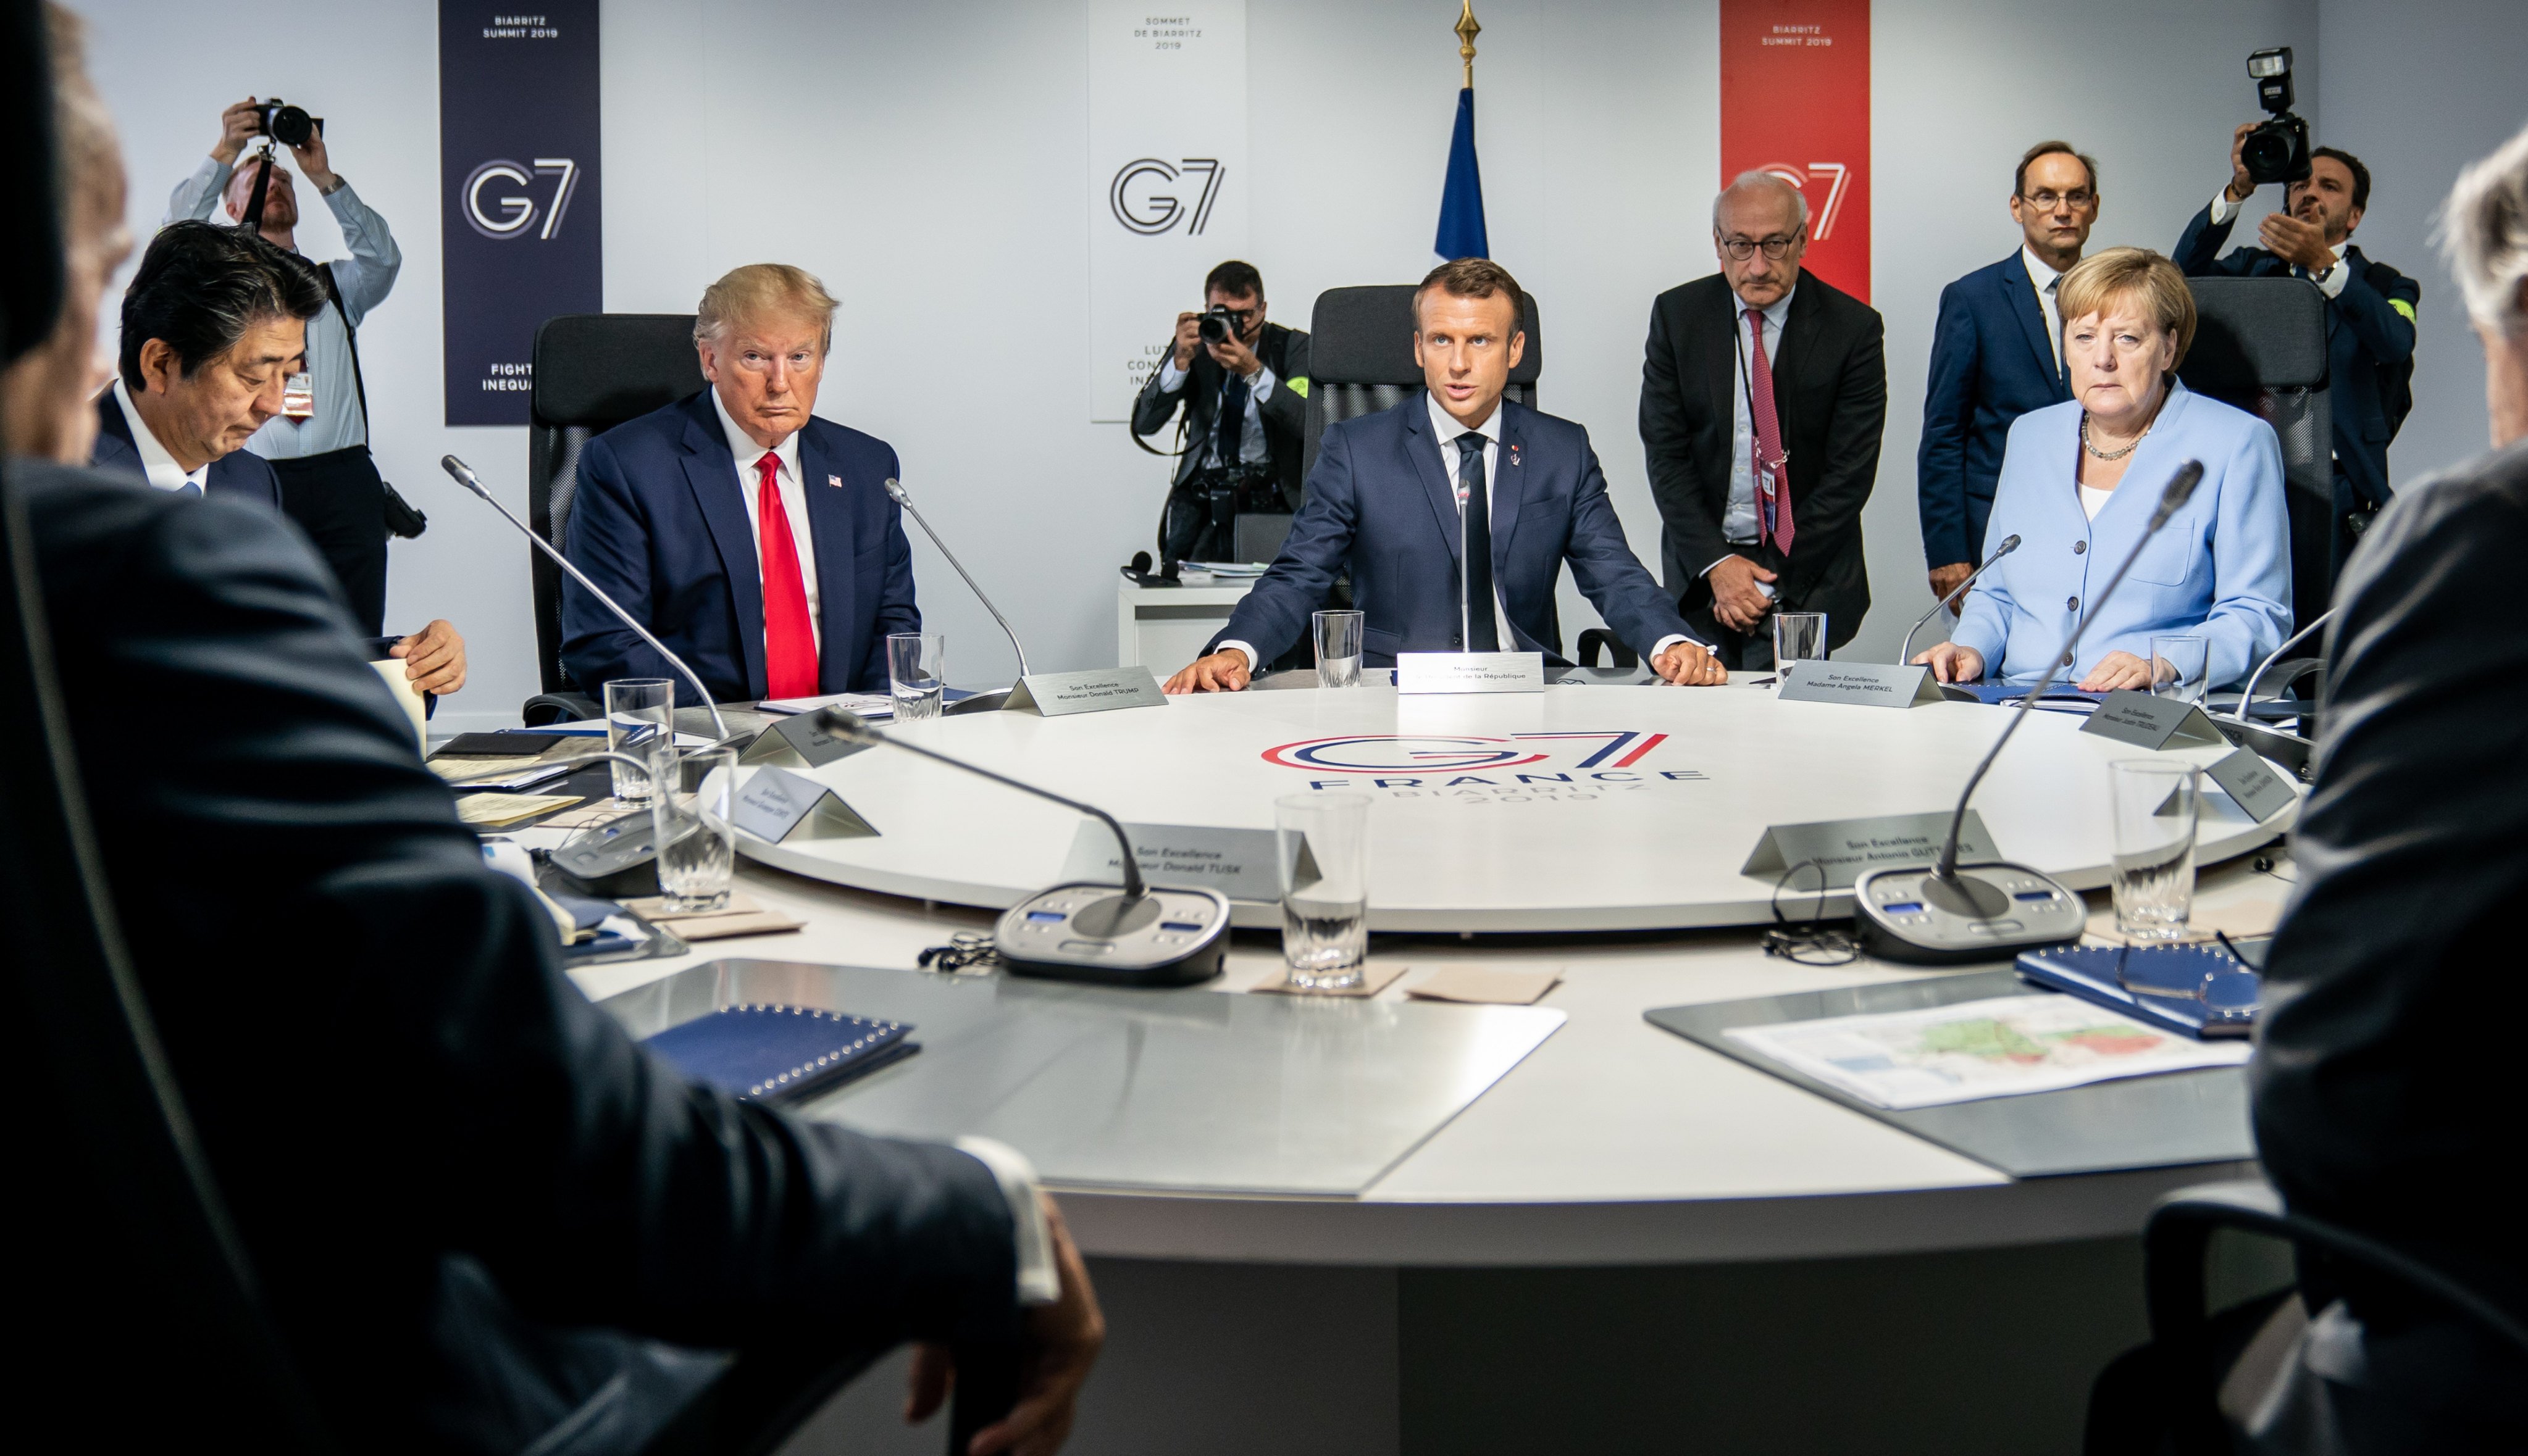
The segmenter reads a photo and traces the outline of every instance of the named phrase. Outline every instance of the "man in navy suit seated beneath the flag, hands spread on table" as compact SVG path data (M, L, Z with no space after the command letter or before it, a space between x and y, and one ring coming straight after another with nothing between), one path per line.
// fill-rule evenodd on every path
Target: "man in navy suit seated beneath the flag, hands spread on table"
M1727 672L1623 543L1588 430L1502 399L1527 351L1519 283L1459 258L1413 293L1426 392L1325 432L1282 556L1168 693L1246 688L1302 632L1342 569L1365 614L1363 665L1398 652L1545 652L1562 662L1567 561L1608 627L1668 682Z

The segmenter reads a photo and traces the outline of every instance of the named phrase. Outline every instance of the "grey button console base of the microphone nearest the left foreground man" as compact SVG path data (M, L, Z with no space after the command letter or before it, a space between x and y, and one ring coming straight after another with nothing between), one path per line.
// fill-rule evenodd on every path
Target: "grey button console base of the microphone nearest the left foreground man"
M1107 986L1193 986L1229 956L1229 900L1216 890L1054 885L1011 905L994 945L1014 976Z

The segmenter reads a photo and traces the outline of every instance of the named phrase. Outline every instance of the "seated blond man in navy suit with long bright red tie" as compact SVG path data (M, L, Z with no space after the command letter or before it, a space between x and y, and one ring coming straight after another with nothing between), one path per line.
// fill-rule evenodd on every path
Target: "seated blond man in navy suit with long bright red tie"
M817 420L834 298L786 263L703 293L710 387L589 440L564 543L723 703L885 693L887 634L920 632L885 440ZM589 693L667 677L657 652L561 581L561 665Z

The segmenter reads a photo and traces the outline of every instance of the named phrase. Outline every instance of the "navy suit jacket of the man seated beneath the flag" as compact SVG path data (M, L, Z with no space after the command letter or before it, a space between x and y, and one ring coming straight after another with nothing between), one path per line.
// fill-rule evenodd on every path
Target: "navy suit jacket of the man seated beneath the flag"
M1555 581L1565 561L1608 627L1643 657L1661 637L1694 637L1623 543L1588 430L1502 399L1494 455L1492 579L1514 637L1502 650L1562 660ZM1459 554L1456 483L1431 440L1426 394L1413 392L1393 410L1327 425L1282 556L1203 652L1236 640L1272 662L1307 632L1345 566L1352 602L1368 614L1368 665L1390 667L1398 652L1461 652Z

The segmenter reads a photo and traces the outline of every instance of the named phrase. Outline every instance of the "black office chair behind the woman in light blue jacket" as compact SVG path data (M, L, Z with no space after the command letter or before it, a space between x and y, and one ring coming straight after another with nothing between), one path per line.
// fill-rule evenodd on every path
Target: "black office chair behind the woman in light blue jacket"
M2326 379L2326 296L2300 278L2187 278L2194 346L2187 389L2263 415L2283 437L2293 627L2333 597L2336 447Z

